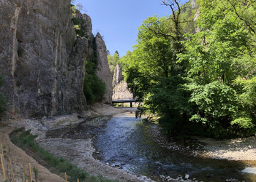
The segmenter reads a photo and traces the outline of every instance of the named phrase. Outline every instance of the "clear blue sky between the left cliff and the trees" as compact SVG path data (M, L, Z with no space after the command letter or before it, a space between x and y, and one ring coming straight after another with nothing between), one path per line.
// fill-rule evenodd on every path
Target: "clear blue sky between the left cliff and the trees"
M187 0L181 0L181 3ZM110 54L116 50L122 57L136 44L138 28L147 17L170 15L162 0L76 0L83 13L91 17L93 33L99 32Z

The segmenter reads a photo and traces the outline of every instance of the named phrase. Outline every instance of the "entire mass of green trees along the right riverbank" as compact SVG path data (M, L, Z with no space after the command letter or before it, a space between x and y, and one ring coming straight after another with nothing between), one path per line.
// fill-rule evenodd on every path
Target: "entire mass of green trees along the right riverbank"
M140 111L161 116L173 135L254 135L256 2L162 3L171 15L148 17L133 52L118 60Z

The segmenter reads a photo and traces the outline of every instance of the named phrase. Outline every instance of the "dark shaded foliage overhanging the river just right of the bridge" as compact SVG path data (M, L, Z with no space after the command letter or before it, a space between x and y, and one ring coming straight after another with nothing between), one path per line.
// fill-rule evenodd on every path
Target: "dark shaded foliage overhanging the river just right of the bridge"
M189 113L189 91L184 86L186 82L181 76L162 77L149 90L145 100L146 108L162 116L159 123L165 127L166 132L173 135L186 130L184 123Z

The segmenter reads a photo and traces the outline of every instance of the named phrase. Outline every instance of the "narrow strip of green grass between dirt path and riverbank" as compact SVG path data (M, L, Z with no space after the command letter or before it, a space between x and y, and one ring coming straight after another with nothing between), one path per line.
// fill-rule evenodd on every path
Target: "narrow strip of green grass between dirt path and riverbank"
M86 182L117 182L104 178L102 175L92 176L85 170L68 162L67 159L61 157L55 157L50 152L43 149L41 146L35 143L34 139L36 135L31 135L30 130L24 131L18 129L10 134L10 140L16 146L20 147L29 154L32 154L34 159L37 159L41 165L44 165L57 175L67 173L68 181L86 181Z

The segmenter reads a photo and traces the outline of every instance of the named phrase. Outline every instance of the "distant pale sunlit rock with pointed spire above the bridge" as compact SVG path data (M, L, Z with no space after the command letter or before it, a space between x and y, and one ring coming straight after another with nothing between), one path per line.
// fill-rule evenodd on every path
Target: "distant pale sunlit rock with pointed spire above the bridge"
M113 77L113 100L133 98L132 92L130 92L127 82L124 82L122 75L122 66L120 63L116 65Z

